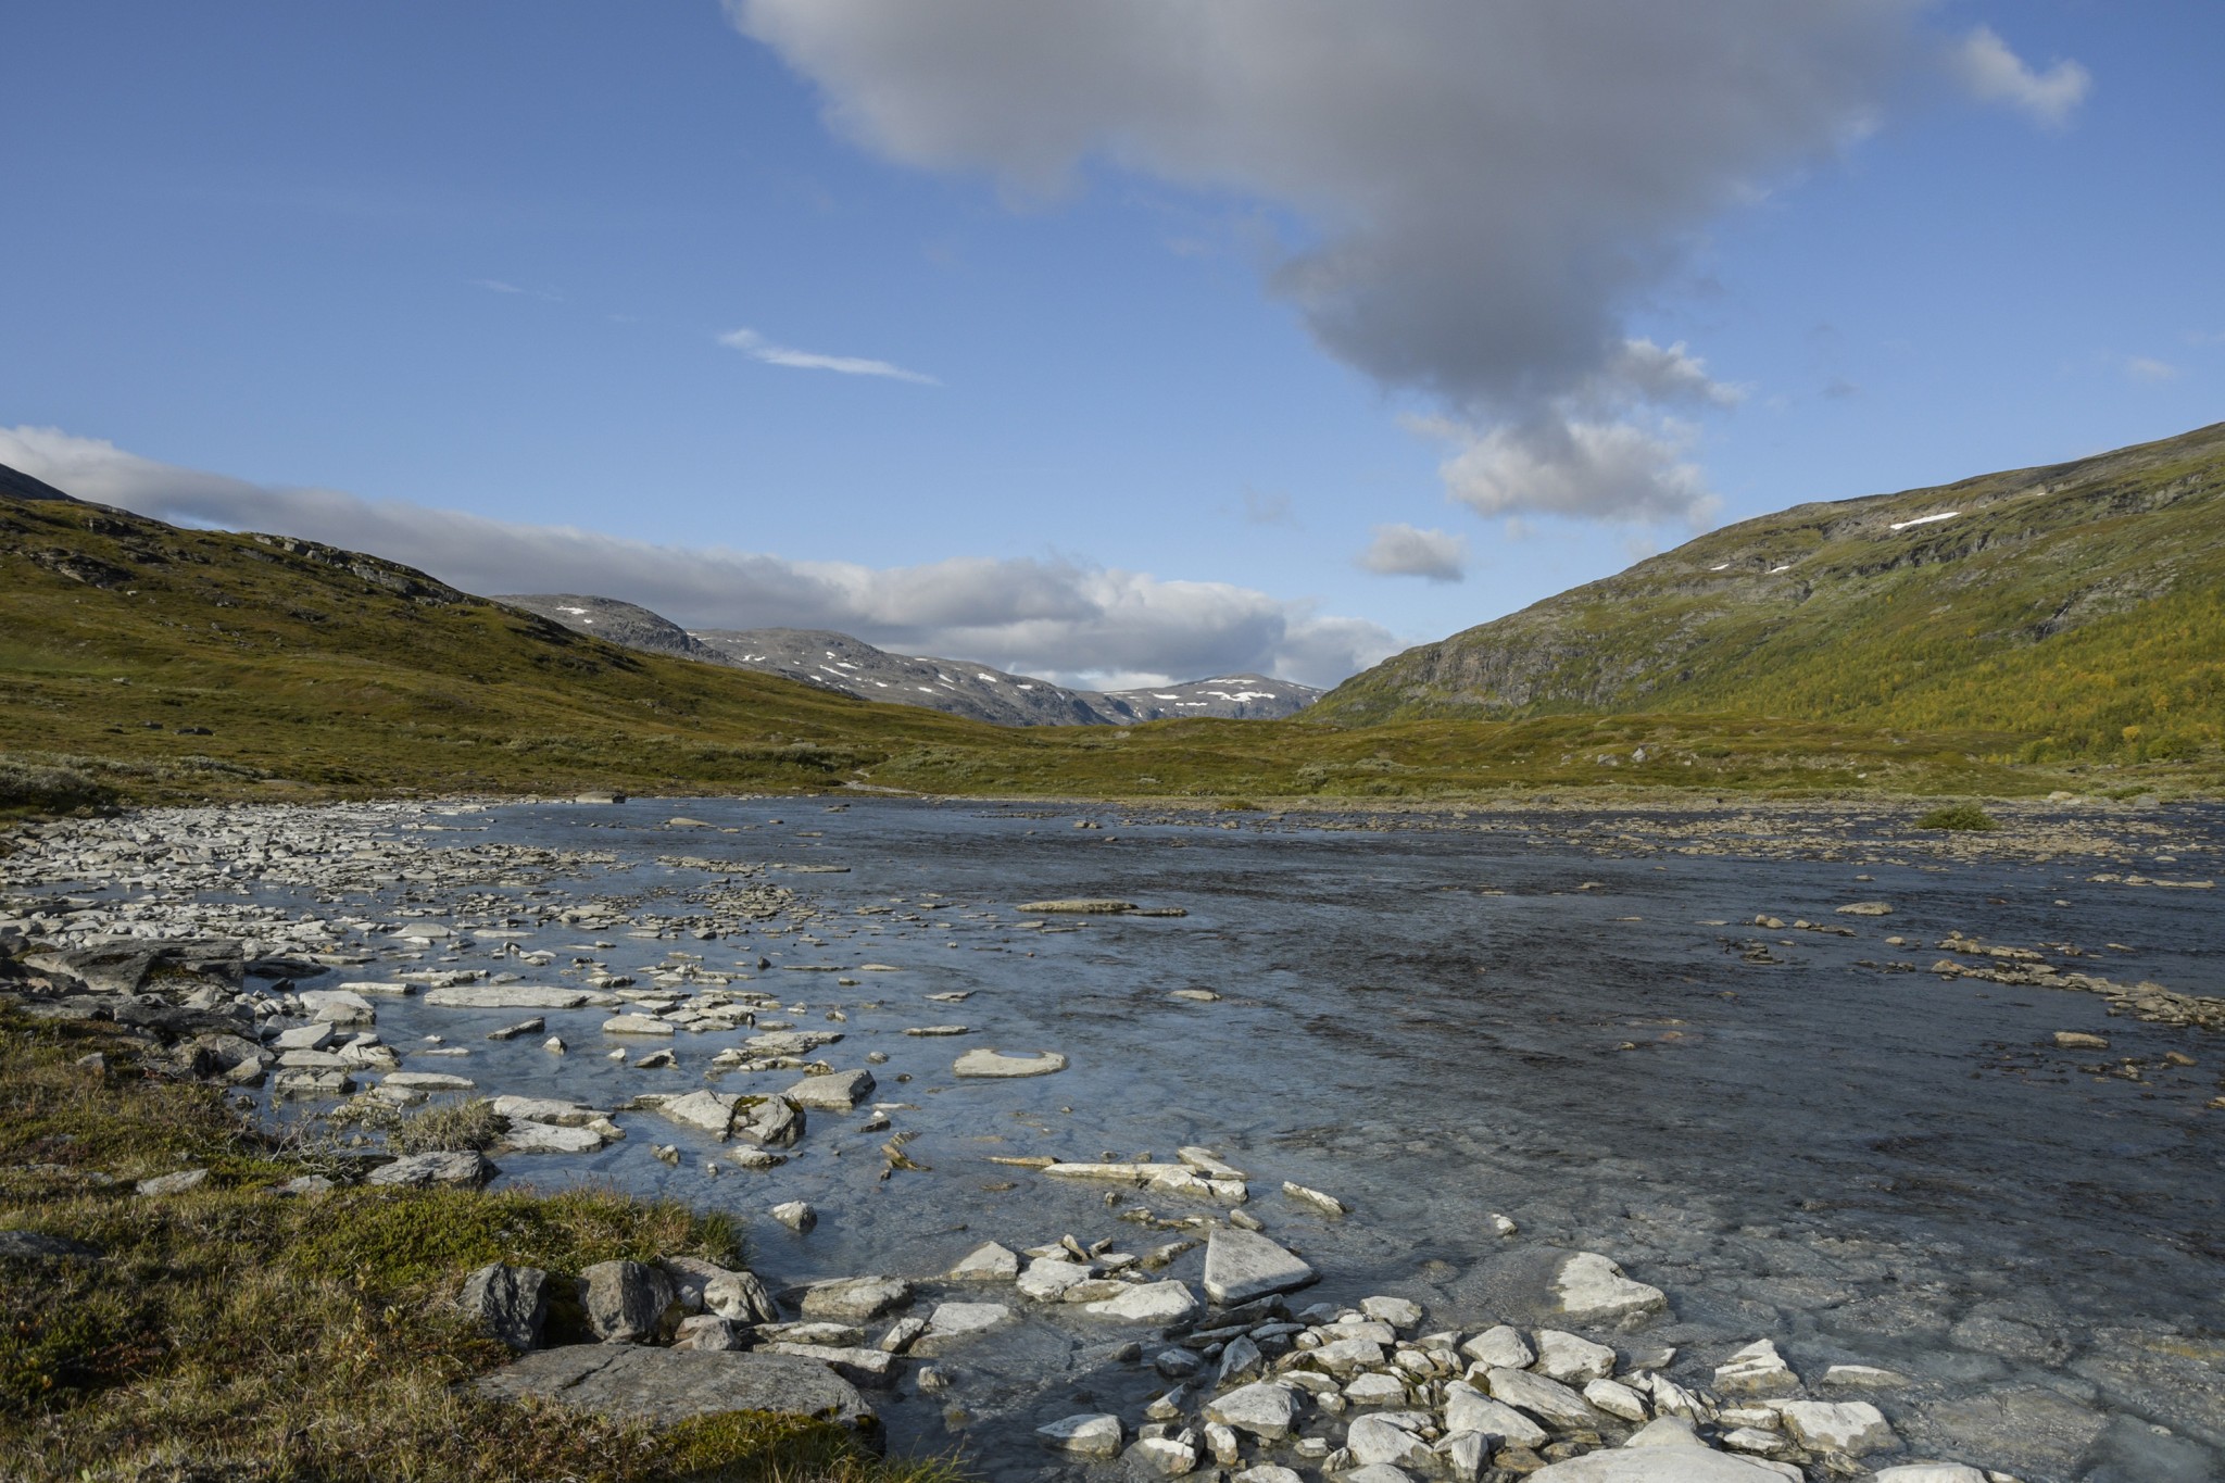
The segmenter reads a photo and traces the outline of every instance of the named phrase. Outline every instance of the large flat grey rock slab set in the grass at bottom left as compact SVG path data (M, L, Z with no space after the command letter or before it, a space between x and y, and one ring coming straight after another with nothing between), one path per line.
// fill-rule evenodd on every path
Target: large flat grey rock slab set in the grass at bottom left
M779 1412L825 1416L879 1436L857 1385L792 1354L576 1343L527 1354L476 1390L494 1401L534 1396L659 1427L716 1412Z

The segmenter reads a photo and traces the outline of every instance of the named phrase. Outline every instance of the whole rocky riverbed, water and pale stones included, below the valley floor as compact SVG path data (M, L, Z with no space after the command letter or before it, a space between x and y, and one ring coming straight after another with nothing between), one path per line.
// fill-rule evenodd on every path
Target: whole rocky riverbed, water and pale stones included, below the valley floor
M995 1479L2218 1476L2225 814L1911 823L171 809L13 840L0 987L365 1178L750 1218L554 1387L801 1361Z

